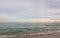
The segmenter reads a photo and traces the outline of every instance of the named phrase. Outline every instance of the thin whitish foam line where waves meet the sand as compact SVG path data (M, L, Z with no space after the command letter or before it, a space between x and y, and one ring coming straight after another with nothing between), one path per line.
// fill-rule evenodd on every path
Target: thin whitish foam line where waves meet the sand
M54 32L60 32L60 31L48 31L48 32L38 32L38 33L30 33L30 34L22 34L22 35L0 35L0 38L5 37L16 37L16 36L33 36L33 35L47 35L47 34L53 34Z

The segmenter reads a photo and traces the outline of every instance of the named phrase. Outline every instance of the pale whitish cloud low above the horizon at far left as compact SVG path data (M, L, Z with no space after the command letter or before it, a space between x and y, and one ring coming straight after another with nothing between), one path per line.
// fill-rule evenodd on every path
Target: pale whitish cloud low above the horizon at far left
M16 17L10 17L7 14L0 13L0 22L14 22L17 21Z

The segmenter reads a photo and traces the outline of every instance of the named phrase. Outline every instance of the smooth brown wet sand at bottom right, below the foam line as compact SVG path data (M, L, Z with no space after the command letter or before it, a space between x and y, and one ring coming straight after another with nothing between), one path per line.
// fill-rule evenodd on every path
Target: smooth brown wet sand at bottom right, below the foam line
M26 35L20 38L60 38L60 32L55 32L52 34L40 34L40 35Z

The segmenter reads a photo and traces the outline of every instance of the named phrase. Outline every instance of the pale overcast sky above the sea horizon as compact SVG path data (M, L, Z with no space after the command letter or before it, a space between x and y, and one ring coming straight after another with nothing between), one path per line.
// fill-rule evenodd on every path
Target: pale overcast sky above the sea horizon
M1 21L60 20L60 0L0 0Z

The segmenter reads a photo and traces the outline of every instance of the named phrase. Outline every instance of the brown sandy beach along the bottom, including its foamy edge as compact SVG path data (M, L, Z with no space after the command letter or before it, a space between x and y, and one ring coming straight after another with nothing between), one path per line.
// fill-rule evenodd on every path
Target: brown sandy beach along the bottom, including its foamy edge
M60 31L56 32L41 32L41 33L31 33L23 35L3 35L0 38L60 38Z

